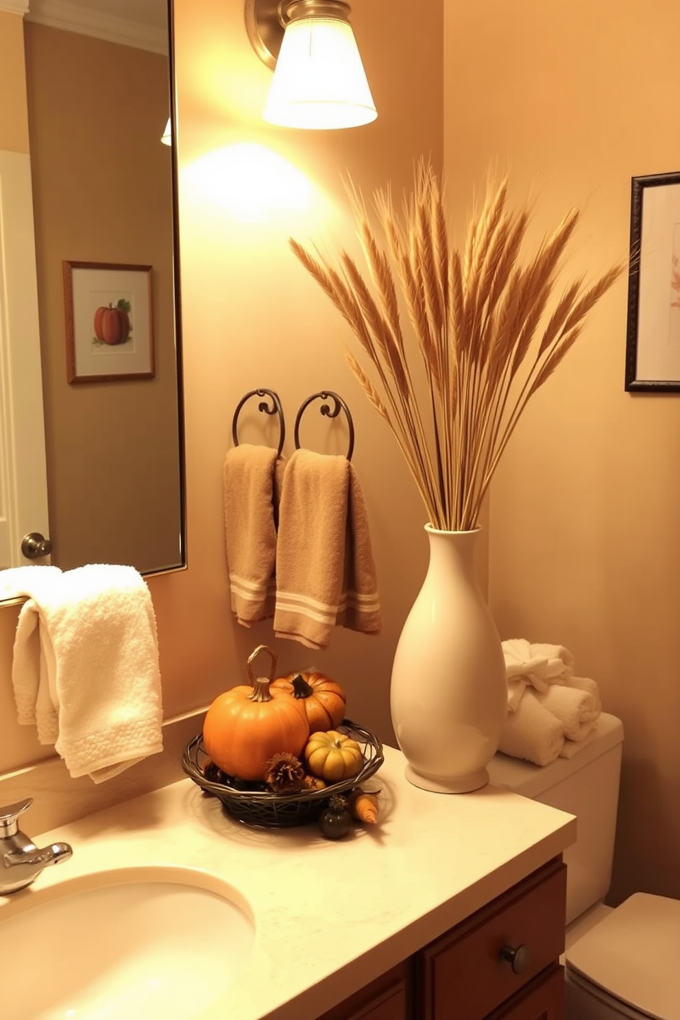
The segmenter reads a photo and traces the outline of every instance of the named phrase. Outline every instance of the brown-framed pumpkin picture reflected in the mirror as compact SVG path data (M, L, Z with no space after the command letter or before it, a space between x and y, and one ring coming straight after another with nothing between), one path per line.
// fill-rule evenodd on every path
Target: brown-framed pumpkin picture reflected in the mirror
M151 268L63 263L69 382L153 378Z

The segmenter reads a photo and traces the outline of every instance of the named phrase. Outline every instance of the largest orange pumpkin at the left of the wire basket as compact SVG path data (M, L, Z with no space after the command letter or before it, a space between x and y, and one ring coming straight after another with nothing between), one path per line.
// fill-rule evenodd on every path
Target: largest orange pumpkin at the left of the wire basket
M266 651L272 657L271 675L254 677L251 663ZM250 684L218 695L203 722L203 744L210 759L227 775L264 779L267 762L279 752L299 757L309 736L304 703L286 692L272 690L276 657L259 645L248 659Z

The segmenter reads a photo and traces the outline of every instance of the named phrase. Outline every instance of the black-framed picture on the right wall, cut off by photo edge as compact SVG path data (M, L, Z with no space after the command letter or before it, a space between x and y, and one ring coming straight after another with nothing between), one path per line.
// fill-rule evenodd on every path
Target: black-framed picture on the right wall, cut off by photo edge
M632 180L626 390L680 393L680 171Z

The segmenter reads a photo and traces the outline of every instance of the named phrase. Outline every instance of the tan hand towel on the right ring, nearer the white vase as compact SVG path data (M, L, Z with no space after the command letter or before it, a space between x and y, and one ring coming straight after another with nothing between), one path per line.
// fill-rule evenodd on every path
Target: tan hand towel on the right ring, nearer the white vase
M366 508L346 457L296 450L279 506L274 632L323 649L337 625L380 628Z

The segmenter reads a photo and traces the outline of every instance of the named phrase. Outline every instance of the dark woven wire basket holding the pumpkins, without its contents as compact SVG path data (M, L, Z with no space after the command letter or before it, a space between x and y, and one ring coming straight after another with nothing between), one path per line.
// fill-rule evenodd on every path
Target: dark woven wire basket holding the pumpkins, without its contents
M257 783L237 785L237 780L224 776L216 781L205 774L210 759L203 746L203 735L199 733L189 742L181 757L181 767L187 775L208 795L217 797L227 815L259 828L291 828L315 821L327 806L333 794L342 794L360 785L372 776L384 761L382 744L367 729L345 719L336 727L356 741L364 756L362 768L349 779L330 783L323 789L303 789L297 794L274 794L270 789L258 789ZM224 773L222 773L224 775Z

